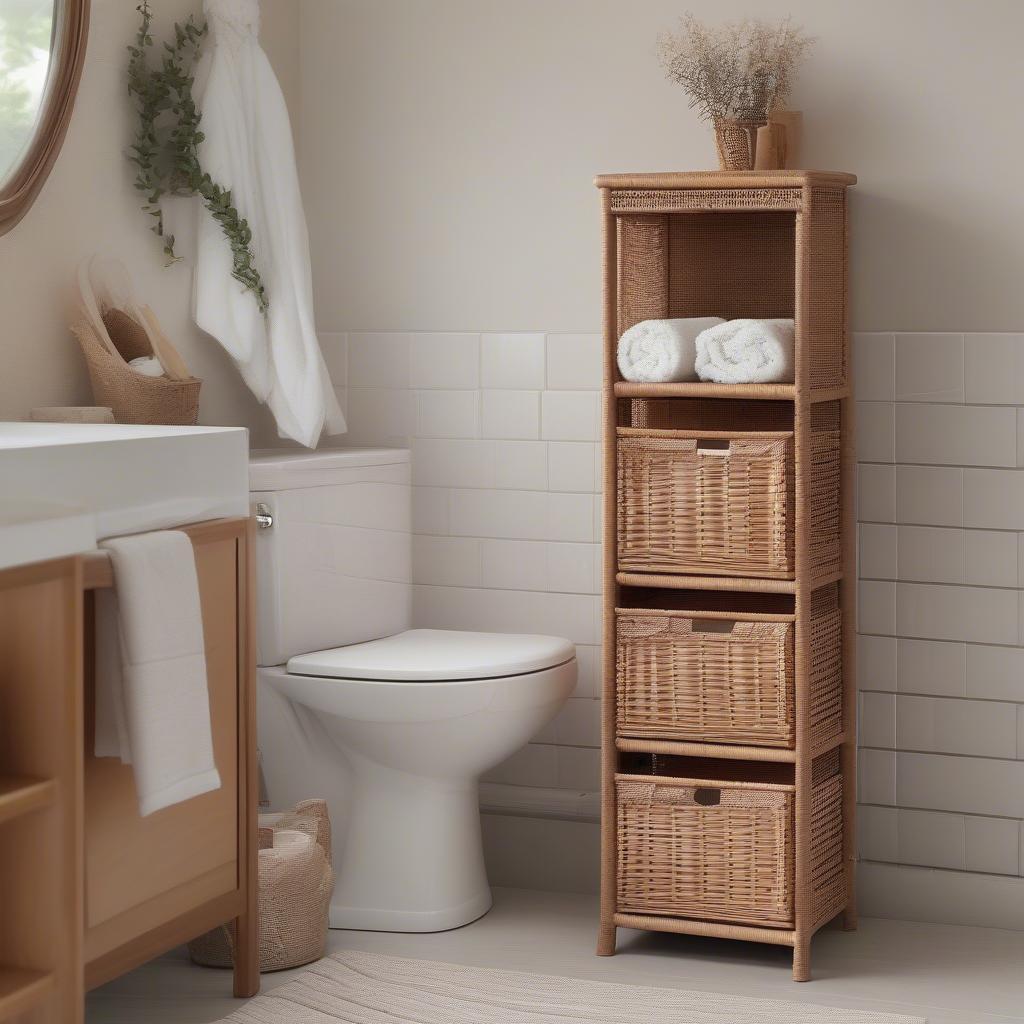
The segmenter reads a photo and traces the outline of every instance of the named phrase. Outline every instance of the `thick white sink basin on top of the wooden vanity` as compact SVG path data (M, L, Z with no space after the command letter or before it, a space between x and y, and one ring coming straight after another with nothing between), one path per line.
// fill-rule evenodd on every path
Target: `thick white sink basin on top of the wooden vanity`
M0 567L248 513L245 429L0 423Z

